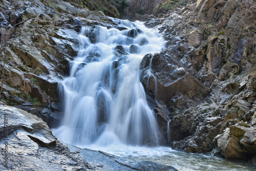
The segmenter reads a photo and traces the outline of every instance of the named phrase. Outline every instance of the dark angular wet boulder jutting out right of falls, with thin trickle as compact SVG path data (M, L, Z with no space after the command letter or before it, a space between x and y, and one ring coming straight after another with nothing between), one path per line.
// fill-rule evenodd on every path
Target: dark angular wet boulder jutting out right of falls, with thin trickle
M164 102L170 101L176 92L188 94L194 99L206 97L209 93L208 89L168 55L169 53L146 55L142 59L141 69L145 75L142 74L141 77L144 77L142 82L146 89L157 94L157 97ZM146 75L150 64L154 76ZM148 81L145 76L149 77ZM157 92L155 92L155 87L157 87Z

